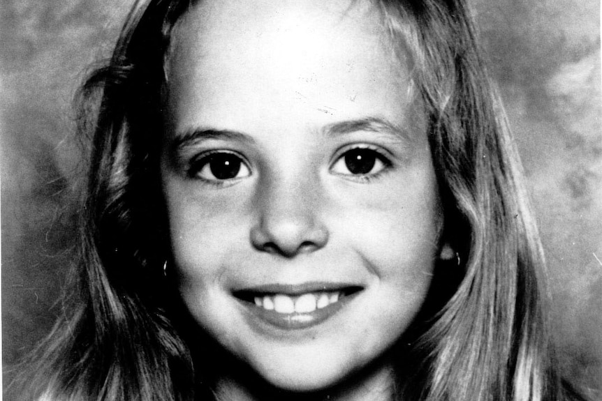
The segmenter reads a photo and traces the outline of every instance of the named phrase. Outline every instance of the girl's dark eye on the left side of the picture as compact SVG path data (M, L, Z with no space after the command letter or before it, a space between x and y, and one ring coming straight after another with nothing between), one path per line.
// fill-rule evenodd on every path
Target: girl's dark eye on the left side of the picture
M250 176L247 164L235 153L215 151L194 160L189 176L205 181L226 181Z

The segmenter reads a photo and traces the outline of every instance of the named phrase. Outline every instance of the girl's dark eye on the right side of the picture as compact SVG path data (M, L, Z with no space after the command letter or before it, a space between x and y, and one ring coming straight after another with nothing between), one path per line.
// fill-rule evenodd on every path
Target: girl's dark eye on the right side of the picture
M366 147L349 149L332 166L332 172L352 176L379 174L391 165L381 153Z

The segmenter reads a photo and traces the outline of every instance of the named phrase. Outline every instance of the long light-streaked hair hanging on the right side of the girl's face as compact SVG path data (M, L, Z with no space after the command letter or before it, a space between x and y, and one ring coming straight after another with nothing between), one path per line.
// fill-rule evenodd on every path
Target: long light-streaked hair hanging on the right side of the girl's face
M457 288L414 344L424 366L421 396L576 397L552 362L541 243L467 5L381 0L379 6L390 37L411 54L430 119L446 213L444 236L455 241L463 261L445 267L446 280L457 282Z

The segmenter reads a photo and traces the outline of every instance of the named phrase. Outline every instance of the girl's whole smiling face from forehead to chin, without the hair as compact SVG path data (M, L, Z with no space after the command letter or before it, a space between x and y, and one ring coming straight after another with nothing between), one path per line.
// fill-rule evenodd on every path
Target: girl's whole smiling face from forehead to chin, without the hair
M175 31L161 174L179 292L281 388L385 374L438 256L425 118L382 32L345 0L212 1Z

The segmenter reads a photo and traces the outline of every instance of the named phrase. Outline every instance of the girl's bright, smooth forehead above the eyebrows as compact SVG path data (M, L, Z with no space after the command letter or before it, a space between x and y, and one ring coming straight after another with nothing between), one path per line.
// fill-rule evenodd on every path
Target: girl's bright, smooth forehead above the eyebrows
M176 113L185 103L244 113L249 105L256 112L257 103L304 103L328 114L337 107L357 111L367 100L382 109L379 102L393 100L399 109L411 98L399 54L368 1L205 1L175 28L169 104Z

